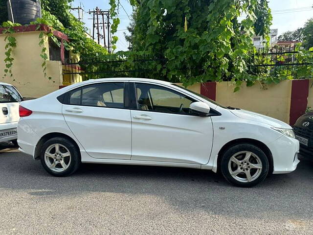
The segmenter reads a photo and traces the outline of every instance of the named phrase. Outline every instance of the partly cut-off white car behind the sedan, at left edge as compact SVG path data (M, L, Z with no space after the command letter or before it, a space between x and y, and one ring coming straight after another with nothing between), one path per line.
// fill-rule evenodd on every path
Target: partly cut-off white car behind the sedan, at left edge
M17 145L17 125L22 95L14 86L0 82L0 142L12 141Z

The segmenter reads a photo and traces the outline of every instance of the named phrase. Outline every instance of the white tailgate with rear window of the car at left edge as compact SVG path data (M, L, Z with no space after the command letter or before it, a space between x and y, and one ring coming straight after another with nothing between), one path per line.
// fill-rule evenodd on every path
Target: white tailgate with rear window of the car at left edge
M22 96L11 85L0 85L0 124L20 119L19 106Z

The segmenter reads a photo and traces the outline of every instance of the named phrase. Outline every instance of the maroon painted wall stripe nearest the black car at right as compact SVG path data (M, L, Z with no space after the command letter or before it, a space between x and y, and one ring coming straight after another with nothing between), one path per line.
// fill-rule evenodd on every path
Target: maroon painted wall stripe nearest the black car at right
M296 120L305 113L308 105L309 80L292 80L289 124L292 126Z

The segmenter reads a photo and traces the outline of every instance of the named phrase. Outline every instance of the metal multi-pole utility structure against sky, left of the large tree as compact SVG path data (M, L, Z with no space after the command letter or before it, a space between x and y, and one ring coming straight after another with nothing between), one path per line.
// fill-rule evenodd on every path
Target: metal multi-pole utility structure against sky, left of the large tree
M95 40L94 34L95 34L95 30L96 30L96 34L97 34L97 42L100 45L100 40L103 39L103 45L105 48L108 49L108 52L111 52L111 46L110 46L110 12L107 11L103 11L101 9L99 9L98 7L96 7L96 9L93 9L92 11L89 10L88 12L90 15L92 14L92 20L93 20L93 24L92 24L92 39ZM105 18L106 16L106 18ZM100 22L102 20L102 22ZM108 37L106 39L105 36L105 29L108 29ZM102 29L103 34L100 33L100 29Z

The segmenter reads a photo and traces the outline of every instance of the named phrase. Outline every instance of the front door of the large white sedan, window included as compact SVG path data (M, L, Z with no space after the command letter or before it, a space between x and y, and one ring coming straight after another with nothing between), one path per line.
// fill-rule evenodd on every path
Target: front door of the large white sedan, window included
M210 117L190 113L194 100L173 89L151 83L131 83L132 160L206 164L213 128Z

